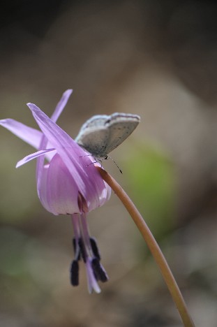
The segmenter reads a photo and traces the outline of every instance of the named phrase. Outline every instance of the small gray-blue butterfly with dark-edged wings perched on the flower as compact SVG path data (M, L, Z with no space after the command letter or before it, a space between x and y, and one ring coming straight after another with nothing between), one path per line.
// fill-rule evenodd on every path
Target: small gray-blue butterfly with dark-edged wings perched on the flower
M93 157L107 159L107 154L124 142L139 122L140 116L133 114L96 115L82 125L75 141Z

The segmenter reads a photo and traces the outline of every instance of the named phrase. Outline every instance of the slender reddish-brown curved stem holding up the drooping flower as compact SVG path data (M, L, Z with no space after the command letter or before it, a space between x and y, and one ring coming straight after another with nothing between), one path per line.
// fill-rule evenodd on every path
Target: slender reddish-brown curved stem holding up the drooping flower
M174 276L172 275L172 271L170 270L170 267L168 266L167 261L163 256L160 247L158 246L158 243L156 242L154 236L149 230L149 227L142 218L142 215L140 215L140 212L137 210L137 208L135 208L133 202L130 200L124 189L122 189L121 186L116 182L116 180L114 180L114 178L102 168L96 168L98 169L98 172L100 173L101 177L103 177L103 180L105 180L105 182L110 185L114 193L117 194L121 202L124 204L126 210L128 210L130 216L133 218L133 221L135 222L140 233L142 234L144 240L147 242L151 254L152 256L154 256L158 268L160 269L160 273L165 279L165 283L167 284L172 299L174 300L174 303L176 304L177 309L179 310L179 314L184 326L194 327L195 325L193 323L193 320L190 318L190 314L188 313L188 309L186 307L184 298L181 295L179 286L177 285L177 282L174 279Z

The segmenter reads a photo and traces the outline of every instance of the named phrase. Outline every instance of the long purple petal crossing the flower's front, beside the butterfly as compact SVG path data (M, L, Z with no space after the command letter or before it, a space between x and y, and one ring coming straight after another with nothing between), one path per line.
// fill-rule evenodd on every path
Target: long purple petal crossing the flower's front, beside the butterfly
M88 207L92 209L100 206L105 184L86 152L36 105L27 105L47 140L57 149Z

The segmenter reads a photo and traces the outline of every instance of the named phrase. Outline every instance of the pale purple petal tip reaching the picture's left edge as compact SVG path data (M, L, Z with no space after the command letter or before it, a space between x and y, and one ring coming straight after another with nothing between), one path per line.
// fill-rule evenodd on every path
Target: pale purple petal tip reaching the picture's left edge
M25 142L29 143L29 145L32 145L33 147L38 149L40 145L40 140L43 136L43 133L41 133L41 131L33 129L10 118L1 119L0 125L8 129L8 131L11 131L16 136L18 136L18 138L21 138Z

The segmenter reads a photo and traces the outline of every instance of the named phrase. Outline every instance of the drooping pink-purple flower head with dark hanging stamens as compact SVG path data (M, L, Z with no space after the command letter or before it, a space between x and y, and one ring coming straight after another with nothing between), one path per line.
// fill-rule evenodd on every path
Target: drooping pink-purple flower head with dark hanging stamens
M41 131L14 119L2 119L0 124L38 151L17 163L17 167L32 159L37 160L36 182L40 202L54 215L71 215L75 238L75 259L70 268L71 283L78 280L78 261L87 268L89 291L100 292L98 280L105 282L107 274L100 264L96 240L90 237L87 213L100 207L110 198L110 187L100 177L82 147L57 124L72 90L63 93L51 118L33 103L27 103Z

